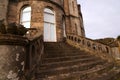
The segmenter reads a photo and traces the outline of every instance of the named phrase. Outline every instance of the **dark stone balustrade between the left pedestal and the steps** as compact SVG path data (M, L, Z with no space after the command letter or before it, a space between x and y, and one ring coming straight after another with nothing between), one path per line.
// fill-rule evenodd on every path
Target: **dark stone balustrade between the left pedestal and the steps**
M26 74L30 77L31 75L34 75L40 64L41 56L44 51L43 36L37 29L30 30L25 36L29 40L26 56L26 69L28 72Z

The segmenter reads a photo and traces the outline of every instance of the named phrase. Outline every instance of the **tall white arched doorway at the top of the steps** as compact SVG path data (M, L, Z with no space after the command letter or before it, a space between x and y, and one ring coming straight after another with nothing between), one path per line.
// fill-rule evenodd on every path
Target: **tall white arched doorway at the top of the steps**
M49 8L44 9L44 42L56 42L55 13Z

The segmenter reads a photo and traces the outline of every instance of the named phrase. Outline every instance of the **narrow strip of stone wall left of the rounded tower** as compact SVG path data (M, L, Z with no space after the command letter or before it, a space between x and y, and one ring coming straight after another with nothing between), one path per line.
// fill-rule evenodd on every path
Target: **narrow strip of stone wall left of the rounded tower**
M8 0L0 0L0 20L5 19L7 15Z

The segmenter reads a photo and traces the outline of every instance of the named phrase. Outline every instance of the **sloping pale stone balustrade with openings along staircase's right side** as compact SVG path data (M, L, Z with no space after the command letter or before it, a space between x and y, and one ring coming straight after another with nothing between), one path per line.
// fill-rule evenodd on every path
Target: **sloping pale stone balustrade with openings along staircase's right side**
M94 40L77 35L68 34L67 43L76 48L80 48L81 50L85 50L95 56L99 56L102 59L105 59L109 62L114 61L111 48Z

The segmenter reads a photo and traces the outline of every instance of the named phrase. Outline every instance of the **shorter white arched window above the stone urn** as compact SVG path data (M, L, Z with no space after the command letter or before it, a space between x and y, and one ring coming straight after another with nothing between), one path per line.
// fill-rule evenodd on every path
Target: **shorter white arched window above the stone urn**
M20 24L24 25L26 28L30 28L31 21L31 7L25 7L21 10Z

